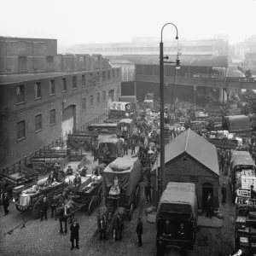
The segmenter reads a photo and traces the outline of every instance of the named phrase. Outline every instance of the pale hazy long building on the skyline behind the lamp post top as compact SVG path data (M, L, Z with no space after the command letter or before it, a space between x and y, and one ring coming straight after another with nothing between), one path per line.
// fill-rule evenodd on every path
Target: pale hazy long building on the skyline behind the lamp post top
M159 55L159 39L134 38L129 43L80 44L68 49L73 54L101 54L106 57L115 55ZM165 54L186 56L228 55L229 46L222 39L165 42Z

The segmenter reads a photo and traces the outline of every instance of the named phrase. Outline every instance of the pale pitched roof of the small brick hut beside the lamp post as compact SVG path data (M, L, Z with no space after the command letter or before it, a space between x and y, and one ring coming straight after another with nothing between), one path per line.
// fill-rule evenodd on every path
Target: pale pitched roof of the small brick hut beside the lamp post
M183 131L179 136L168 143L165 148L166 163L186 152L195 160L201 162L215 174L219 175L217 149L212 143L199 136L191 129ZM158 164L160 163L160 155ZM157 168L155 165L153 170Z

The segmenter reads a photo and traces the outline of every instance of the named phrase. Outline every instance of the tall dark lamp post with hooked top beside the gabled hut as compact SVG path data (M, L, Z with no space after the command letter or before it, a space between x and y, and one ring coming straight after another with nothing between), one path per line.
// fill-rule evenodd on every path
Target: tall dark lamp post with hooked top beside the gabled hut
M172 25L172 23L166 23L165 26ZM164 43L163 43L163 30L165 26L161 29L161 41L160 41L160 195L163 191L163 181L164 181L164 172L165 172L165 99L164 99L164 63L176 63L179 67L180 61L177 58L176 62L173 61L164 61L164 59L169 59L168 56L164 57ZM176 39L177 36L177 26L176 28Z

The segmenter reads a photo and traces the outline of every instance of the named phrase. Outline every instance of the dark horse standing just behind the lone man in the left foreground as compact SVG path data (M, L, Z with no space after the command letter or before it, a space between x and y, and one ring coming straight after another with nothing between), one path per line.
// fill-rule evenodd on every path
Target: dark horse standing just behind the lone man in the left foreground
M60 235L67 235L67 220L69 220L69 223L72 223L72 219L74 218L74 213L72 213L74 210L74 201L69 200L64 202L64 204L61 207L57 207L55 210L55 220L59 219L61 230L59 232ZM63 233L62 229L62 222L65 224L65 230Z

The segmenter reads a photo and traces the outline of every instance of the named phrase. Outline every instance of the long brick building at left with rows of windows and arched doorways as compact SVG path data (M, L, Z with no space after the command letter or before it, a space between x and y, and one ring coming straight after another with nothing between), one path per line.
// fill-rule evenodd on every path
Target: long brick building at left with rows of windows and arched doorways
M121 70L102 55L57 55L53 39L0 38L1 166L108 112Z

